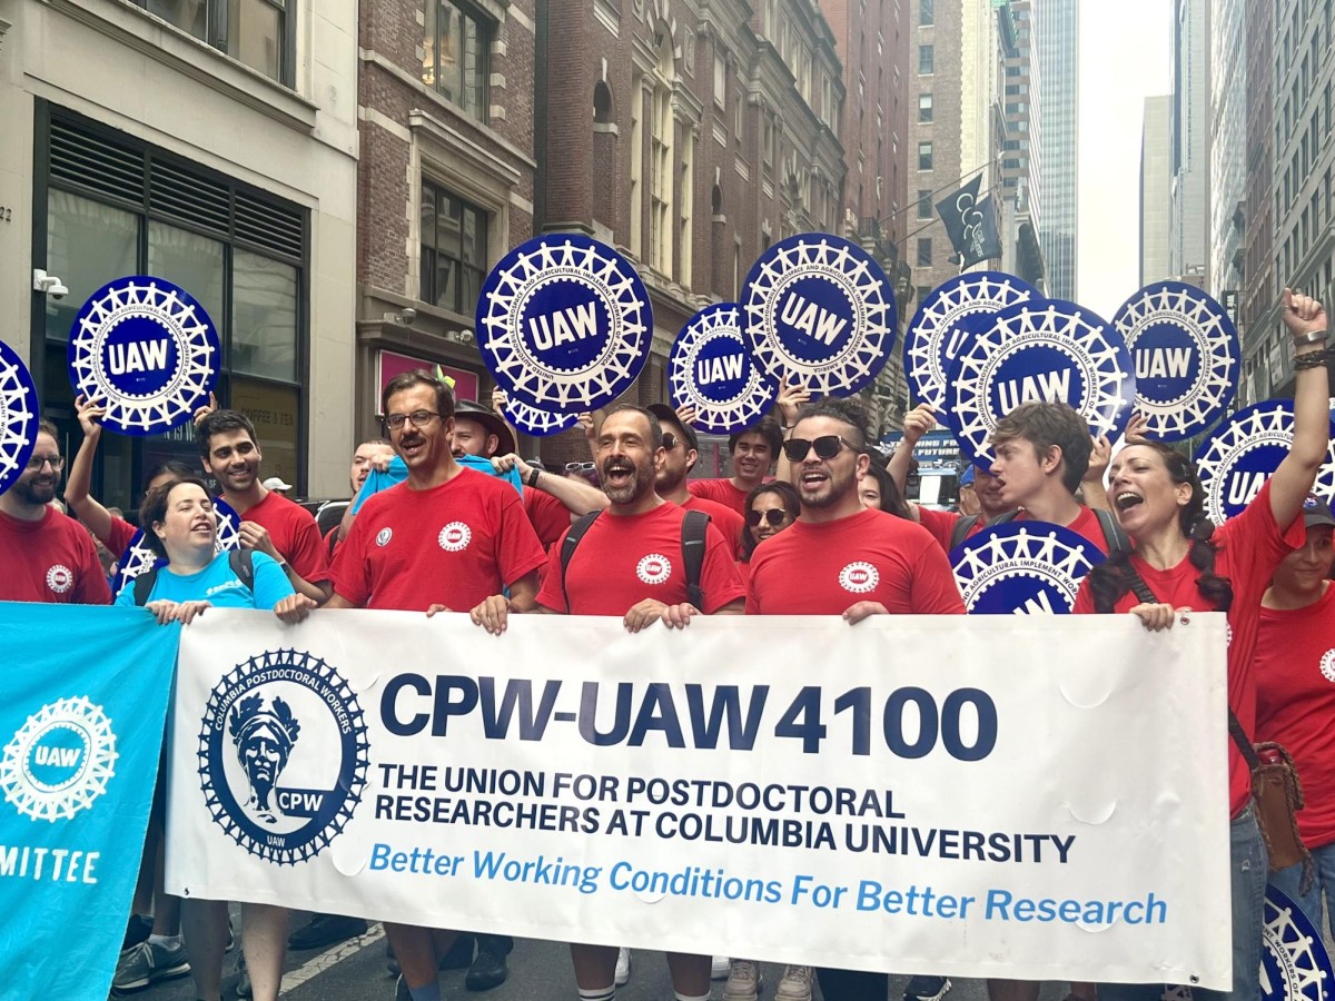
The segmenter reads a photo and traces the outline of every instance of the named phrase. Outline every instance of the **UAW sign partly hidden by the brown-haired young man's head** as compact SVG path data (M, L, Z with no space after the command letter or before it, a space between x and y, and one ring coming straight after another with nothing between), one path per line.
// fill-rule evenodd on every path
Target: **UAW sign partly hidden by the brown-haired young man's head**
M1060 299L1031 299L965 318L967 334L947 380L945 408L965 455L993 460L997 422L1029 400L1069 403L1095 435L1121 436L1136 396L1131 354L1095 312Z

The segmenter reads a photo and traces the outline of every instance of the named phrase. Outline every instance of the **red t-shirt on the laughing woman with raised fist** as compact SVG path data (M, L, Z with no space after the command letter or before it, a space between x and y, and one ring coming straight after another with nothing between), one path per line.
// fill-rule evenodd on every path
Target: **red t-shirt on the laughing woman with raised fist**
M1260 627L1260 597L1270 586L1275 567L1294 549L1303 545L1307 530L1303 519L1295 518L1287 531L1275 525L1270 510L1270 480L1260 488L1256 498L1242 514L1230 518L1215 530L1214 542L1219 547L1215 554L1215 573L1227 577L1234 589L1234 601L1228 609L1228 705L1238 722L1248 734L1256 733L1256 675L1254 657L1256 634ZM1188 607L1196 611L1216 611L1206 605L1196 590L1200 571L1191 565L1189 557L1183 557L1177 566L1156 570L1145 561L1131 554L1131 563L1153 591L1157 601L1175 609ZM1131 611L1140 599L1127 591L1117 599L1115 611ZM1093 595L1089 579L1085 578L1076 595L1075 613L1092 613ZM1251 770L1238 751L1231 737L1228 741L1228 798L1231 815L1236 817L1251 802Z

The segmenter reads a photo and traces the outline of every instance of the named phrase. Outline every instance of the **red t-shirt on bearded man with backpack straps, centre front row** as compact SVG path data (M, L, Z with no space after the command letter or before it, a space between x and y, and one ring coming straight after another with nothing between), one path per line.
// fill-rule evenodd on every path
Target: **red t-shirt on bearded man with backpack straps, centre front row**
M645 598L681 605L686 598L686 574L681 555L685 513L674 503L661 503L645 514L615 515L603 511L575 549L561 587L561 547L551 547L547 574L538 605L574 615L625 615ZM705 593L701 611L713 614L746 597L737 577L733 546L713 525L705 534L705 562L700 570ZM566 595L570 607L566 607Z

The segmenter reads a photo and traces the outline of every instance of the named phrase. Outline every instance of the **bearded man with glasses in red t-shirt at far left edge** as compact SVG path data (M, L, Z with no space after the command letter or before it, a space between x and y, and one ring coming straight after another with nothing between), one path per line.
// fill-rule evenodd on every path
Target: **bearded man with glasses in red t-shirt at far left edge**
M111 589L92 537L51 507L65 459L41 420L28 467L0 494L0 601L108 605Z

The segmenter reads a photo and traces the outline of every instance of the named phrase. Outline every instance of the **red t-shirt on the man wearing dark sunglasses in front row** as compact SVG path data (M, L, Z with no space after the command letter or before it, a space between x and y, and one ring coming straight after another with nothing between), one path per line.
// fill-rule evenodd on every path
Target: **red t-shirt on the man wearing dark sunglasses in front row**
M749 615L838 615L861 601L898 615L964 614L932 534L885 511L798 519L757 546L750 566Z

